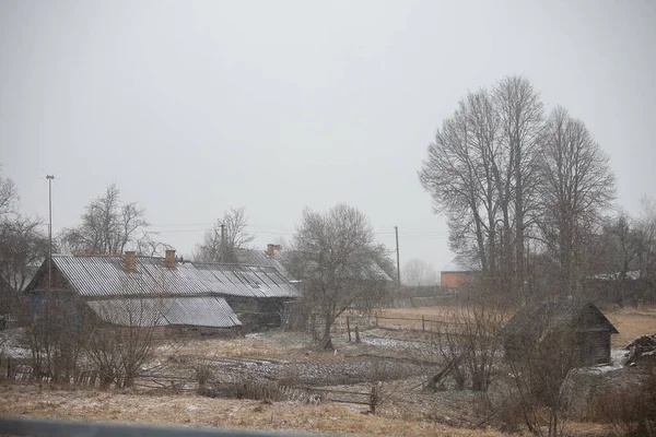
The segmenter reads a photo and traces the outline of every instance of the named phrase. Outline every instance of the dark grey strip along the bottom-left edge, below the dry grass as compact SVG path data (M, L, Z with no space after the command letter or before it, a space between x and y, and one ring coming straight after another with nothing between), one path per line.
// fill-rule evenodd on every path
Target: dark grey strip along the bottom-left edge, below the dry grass
M234 428L201 428L107 422L69 422L36 417L0 417L0 435L73 437L328 437L328 434L253 432Z

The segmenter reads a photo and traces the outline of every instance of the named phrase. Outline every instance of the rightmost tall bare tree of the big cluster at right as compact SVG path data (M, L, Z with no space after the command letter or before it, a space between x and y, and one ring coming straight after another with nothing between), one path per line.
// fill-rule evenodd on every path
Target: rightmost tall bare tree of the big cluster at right
M614 176L585 125L562 107L550 115L542 142L540 226L560 270L560 292L571 293L586 273L583 249L614 198Z

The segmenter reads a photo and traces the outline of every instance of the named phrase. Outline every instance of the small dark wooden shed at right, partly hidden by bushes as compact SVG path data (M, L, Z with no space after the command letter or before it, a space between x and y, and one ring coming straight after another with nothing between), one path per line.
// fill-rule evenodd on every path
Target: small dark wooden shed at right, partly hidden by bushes
M573 335L575 367L610 363L610 336L619 333L593 303L574 300L524 305L503 327L506 358L519 361L525 349L555 332Z

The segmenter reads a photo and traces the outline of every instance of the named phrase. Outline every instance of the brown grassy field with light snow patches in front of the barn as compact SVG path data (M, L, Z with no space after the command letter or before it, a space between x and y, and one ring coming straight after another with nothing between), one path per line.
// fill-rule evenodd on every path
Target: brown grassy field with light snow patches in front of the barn
M443 363L426 343L427 336L398 328L421 330L422 316L446 320L449 311L448 307L384 310L380 327L363 330L362 343L349 343L344 332L338 333L337 352L318 352L306 335L289 332L190 339L174 349L163 347L156 358L157 373L140 378L130 390L4 380L0 415L376 436L503 436L499 423L489 420L489 411L481 406L485 402L481 403L480 394L448 387L438 392L422 390L426 376ZM613 347L637 334L656 332L652 309L606 314L621 332L614 335ZM396 329L384 329L387 321ZM200 395L194 373L199 364L212 371L215 387L247 382L273 390L255 400ZM374 380L380 381L385 395L375 415L365 414L367 405L353 403L366 395L344 399L336 394L368 393ZM278 398L274 389L282 385L303 389L298 395ZM320 402L308 403L308 393L321 393ZM503 390L494 388L487 402L501 404L503 395ZM582 437L611 434L607 425L595 423L569 423L567 430Z

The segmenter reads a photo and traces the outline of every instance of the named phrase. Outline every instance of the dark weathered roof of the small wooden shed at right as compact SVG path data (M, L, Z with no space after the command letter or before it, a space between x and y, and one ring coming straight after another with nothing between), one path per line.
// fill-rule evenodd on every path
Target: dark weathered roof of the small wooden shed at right
M527 335L539 339L555 327L575 331L618 330L593 303L576 300L541 302L526 304L503 327L504 335Z

